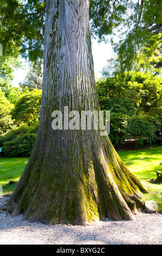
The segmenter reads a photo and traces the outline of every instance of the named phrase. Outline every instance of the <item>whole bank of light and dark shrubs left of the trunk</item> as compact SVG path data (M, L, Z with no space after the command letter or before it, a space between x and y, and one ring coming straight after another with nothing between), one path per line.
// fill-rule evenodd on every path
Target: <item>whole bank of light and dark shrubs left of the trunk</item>
M42 91L37 89L31 92L25 89L21 92L21 89L12 88L9 101L0 91L0 147L5 156L31 154L37 136L41 94ZM10 102L15 103L15 106ZM20 127L14 126L14 123ZM23 123L27 125L22 125ZM33 126L34 124L37 125Z

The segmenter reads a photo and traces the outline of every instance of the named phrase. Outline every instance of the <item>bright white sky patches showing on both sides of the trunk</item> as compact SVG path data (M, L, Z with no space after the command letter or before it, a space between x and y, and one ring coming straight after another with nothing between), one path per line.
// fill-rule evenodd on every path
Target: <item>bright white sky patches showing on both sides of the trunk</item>
M103 66L106 66L107 59L112 57L112 46L110 44L105 44L101 42L98 44L96 40L92 40L92 54L94 60L94 71L95 73L100 73ZM25 69L18 69L14 71L14 80L12 81L12 86L17 87L18 83L22 82L27 75L28 65L24 60L23 64Z

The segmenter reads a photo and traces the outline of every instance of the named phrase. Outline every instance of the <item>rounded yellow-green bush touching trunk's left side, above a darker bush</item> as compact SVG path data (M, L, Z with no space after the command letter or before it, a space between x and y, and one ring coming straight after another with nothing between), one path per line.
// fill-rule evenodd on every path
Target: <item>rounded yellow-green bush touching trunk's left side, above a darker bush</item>
M15 119L17 125L25 123L35 124L40 117L42 90L34 89L29 93L22 95L12 110L12 119Z

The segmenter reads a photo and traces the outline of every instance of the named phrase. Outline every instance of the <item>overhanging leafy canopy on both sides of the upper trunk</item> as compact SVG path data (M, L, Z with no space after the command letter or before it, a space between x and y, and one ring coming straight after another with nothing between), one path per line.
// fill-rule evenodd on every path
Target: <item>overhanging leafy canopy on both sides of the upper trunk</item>
M0 42L5 54L19 53L31 61L43 58L46 1L4 0L0 11ZM139 51L152 48L152 36L161 32L162 3L155 0L90 0L91 33L99 41L117 33L114 44L120 70L130 69ZM155 38L159 41L160 38ZM112 40L113 42L113 40ZM155 49L154 49L155 50Z

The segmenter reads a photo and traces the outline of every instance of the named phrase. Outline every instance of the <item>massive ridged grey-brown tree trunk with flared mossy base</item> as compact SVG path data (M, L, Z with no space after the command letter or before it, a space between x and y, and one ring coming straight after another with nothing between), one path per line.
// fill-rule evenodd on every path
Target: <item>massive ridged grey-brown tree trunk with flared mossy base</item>
M134 198L145 192L99 130L53 130L55 110L99 111L88 0L47 0L44 78L38 135L17 188L12 216L85 225L133 220ZM64 117L64 115L63 115Z

